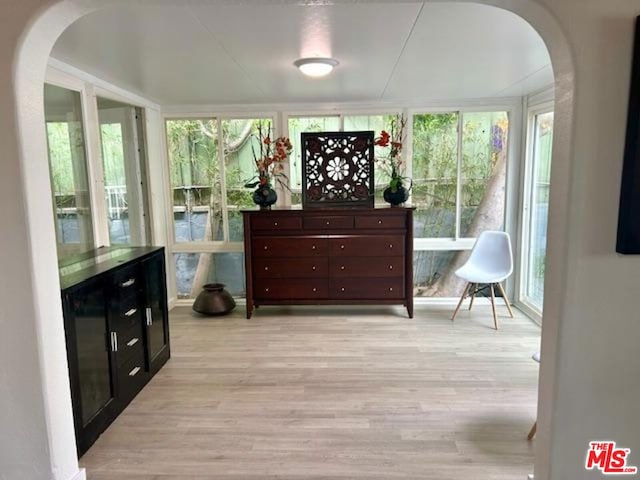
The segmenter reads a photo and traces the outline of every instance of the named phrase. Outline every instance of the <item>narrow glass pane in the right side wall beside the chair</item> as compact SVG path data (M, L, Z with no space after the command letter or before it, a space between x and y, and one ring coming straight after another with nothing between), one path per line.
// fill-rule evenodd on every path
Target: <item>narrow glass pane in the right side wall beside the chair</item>
M532 117L530 131L523 242L522 300L542 312L547 253L549 179L553 144L553 112Z

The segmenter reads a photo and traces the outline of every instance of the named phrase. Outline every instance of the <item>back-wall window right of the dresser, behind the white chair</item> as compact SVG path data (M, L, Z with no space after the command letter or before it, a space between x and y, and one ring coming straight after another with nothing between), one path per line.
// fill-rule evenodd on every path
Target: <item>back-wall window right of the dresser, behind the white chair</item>
M413 116L416 296L459 296L471 247L459 240L504 227L508 132L503 111Z

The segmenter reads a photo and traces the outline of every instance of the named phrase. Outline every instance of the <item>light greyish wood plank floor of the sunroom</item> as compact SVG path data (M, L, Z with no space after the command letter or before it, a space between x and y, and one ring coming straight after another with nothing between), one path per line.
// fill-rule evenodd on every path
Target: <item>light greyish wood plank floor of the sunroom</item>
M89 480L523 480L540 330L451 312L175 309L171 360L81 464Z

